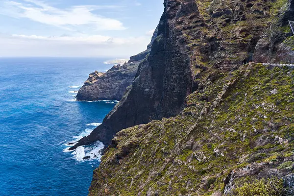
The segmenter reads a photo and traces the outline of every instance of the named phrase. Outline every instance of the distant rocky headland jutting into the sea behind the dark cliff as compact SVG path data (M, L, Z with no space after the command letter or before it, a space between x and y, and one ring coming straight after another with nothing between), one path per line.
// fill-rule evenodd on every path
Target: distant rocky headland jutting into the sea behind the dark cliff
M121 100L132 84L139 62L113 66L106 73L91 73L85 85L78 91L77 100Z

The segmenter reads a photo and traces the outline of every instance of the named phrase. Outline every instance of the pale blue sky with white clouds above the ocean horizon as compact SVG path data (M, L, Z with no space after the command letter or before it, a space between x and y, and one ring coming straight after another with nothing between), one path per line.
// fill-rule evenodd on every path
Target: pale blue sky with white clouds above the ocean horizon
M129 57L147 48L163 0L0 0L0 57Z

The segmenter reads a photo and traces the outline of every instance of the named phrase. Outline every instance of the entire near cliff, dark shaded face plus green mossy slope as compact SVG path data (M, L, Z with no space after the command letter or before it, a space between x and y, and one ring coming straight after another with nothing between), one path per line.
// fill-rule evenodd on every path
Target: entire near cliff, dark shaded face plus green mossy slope
M294 1L164 5L132 86L75 146L111 144L90 195L293 195L294 72L248 62L293 63Z

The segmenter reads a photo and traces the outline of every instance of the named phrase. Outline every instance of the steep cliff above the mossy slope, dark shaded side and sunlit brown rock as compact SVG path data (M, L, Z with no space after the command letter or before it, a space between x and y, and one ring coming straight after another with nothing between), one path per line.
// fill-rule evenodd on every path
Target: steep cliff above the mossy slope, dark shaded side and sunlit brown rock
M108 145L123 128L179 114L186 96L204 88L207 75L218 78L252 59L282 58L273 58L276 50L271 48L286 45L289 34L281 29L287 29L283 17L292 17L292 1L165 0L164 5L157 38L132 86L103 123L72 149L96 140ZM275 40L269 32L280 39L265 47L263 40Z

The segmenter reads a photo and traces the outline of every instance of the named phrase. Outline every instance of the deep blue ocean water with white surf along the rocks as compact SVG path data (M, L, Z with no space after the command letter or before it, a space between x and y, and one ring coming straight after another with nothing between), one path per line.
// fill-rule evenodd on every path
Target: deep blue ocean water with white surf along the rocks
M89 73L112 67L104 60L0 58L0 196L87 195L102 145L68 152L66 144L114 107L73 100Z

